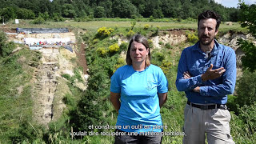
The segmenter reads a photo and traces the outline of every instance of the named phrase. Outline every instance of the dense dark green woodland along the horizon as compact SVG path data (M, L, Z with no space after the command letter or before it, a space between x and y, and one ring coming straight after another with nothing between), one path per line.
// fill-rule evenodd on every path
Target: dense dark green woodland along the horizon
M222 21L238 22L237 8L227 8L214 0L0 0L0 3L0 15L6 20L34 19L40 15L55 21L86 17L196 19L203 10L215 10L222 15Z

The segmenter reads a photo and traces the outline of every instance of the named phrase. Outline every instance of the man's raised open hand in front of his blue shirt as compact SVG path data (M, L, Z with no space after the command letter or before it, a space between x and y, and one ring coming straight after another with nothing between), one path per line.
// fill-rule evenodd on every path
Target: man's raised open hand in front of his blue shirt
M211 80L211 79L215 79L218 77L221 77L222 74L226 71L224 69L224 67L218 68L216 70L212 70L212 68L214 67L213 64L210 64L210 67L206 70L206 73L202 74L202 81L207 81L207 80Z

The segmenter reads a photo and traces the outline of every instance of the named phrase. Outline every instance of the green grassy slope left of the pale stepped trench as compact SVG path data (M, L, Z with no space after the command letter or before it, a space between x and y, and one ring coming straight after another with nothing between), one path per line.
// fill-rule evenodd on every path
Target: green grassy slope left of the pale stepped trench
M26 48L6 58L0 58L0 143L10 143L24 137L23 126L33 122L33 68L38 53ZM30 126L31 128L31 126Z

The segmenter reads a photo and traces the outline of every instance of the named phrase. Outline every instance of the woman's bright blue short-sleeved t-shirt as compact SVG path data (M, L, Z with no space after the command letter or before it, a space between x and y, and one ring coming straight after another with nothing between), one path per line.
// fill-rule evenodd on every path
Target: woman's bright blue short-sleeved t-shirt
M143 71L122 66L111 77L110 91L121 93L117 126L126 132L161 132L162 126L158 93L168 91L166 76L158 66ZM158 128L156 128L158 127Z

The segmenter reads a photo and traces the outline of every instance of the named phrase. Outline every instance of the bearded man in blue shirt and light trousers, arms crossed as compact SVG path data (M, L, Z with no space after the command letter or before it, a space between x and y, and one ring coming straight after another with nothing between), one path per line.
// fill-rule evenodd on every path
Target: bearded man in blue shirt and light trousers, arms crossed
M214 11L198 15L199 41L182 51L176 86L188 99L184 110L183 143L234 143L230 136L227 94L234 92L234 50L214 40L221 21Z

